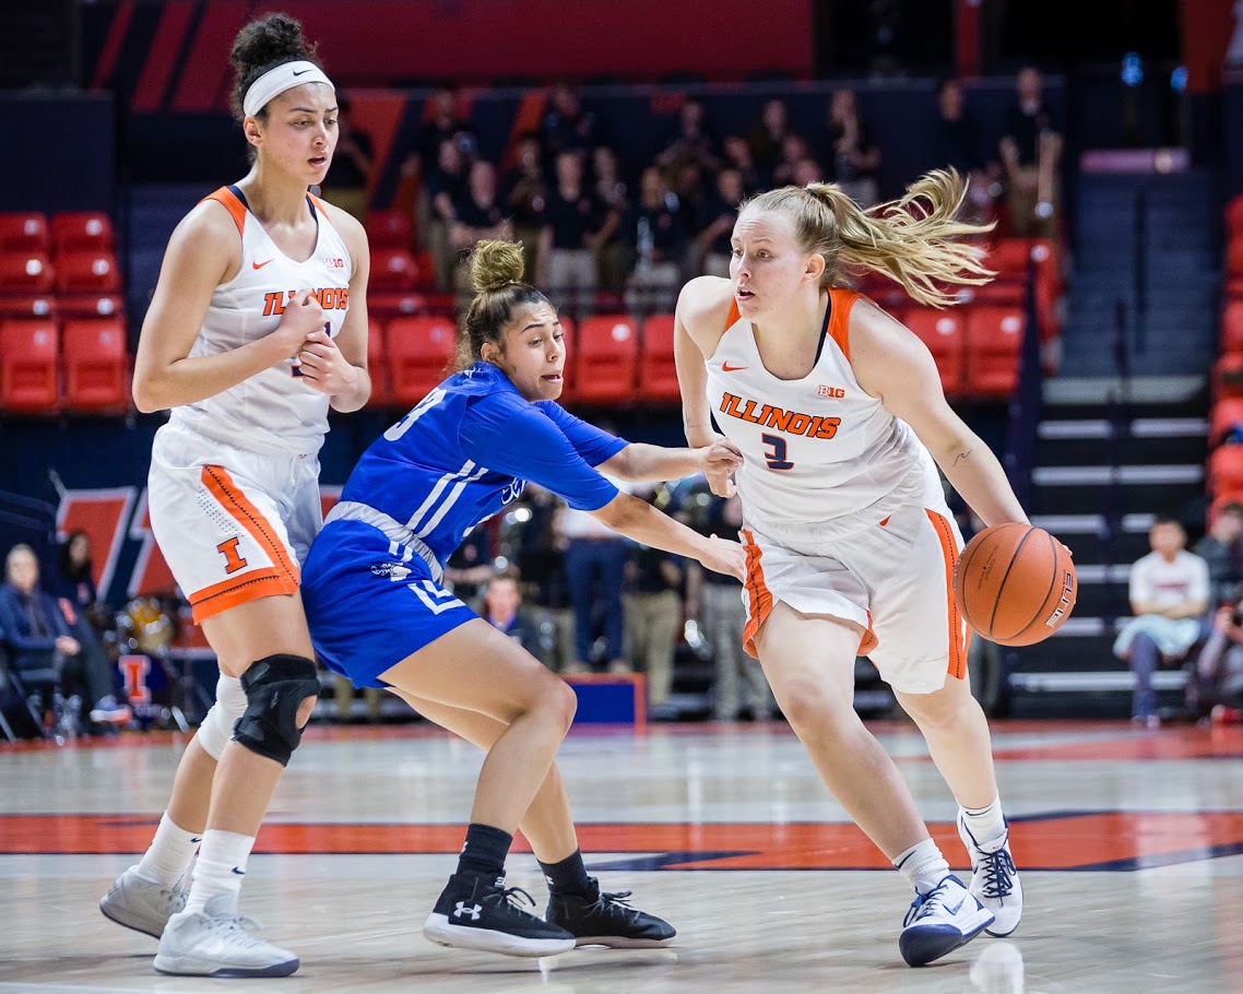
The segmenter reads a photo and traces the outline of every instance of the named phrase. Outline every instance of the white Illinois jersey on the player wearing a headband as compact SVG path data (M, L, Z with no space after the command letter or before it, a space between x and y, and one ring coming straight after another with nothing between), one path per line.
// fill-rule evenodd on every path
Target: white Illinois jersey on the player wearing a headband
M277 248L236 186L222 186L206 199L232 215L241 234L241 268L211 294L190 355L230 352L271 333L305 290L318 298L326 329L336 337L349 307L353 265L323 204L307 195L319 232L311 257L295 262ZM169 420L240 449L313 455L328 431L328 396L301 380L290 357L221 394L174 408Z

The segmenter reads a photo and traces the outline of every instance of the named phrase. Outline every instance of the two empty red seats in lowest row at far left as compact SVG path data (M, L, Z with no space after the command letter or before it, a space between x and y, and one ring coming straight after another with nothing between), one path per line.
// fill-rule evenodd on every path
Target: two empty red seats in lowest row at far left
M122 414L131 360L119 317L0 321L0 410Z

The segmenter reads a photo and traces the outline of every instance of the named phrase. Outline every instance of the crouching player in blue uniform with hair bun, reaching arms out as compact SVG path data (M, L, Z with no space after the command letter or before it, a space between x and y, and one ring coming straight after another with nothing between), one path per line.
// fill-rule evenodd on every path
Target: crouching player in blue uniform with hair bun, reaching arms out
M307 557L303 598L319 657L359 687L388 687L419 713L487 750L456 872L424 924L445 946L547 955L576 944L664 946L674 929L587 875L553 757L574 692L441 585L462 537L527 481L614 531L742 577L742 547L705 538L622 493L600 473L664 481L730 472L725 444L629 445L557 403L566 349L547 298L521 282L522 246L475 250L477 291L459 373L363 455ZM517 828L548 880L546 918L505 887ZM530 900L530 898L528 898Z

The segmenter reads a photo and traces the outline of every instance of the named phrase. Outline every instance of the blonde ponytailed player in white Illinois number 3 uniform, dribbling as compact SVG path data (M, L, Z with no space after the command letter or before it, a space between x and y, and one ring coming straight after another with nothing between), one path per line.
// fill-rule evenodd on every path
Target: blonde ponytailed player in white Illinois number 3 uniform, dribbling
M1022 912L988 724L967 682L970 632L952 590L962 538L940 466L986 524L1025 522L997 458L951 410L925 345L866 297L851 270L894 278L922 303L983 283L987 231L953 220L966 184L931 173L860 210L838 186L761 194L733 229L730 278L699 277L677 304L686 437L743 455L715 492L742 498L746 649L825 785L915 886L899 939L922 965ZM870 656L915 719L961 806L970 890L929 835L911 793L853 708Z

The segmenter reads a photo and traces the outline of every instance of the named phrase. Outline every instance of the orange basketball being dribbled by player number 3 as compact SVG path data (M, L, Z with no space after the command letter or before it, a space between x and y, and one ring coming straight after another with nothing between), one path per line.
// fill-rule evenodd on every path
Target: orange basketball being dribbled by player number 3
M1078 591L1070 553L1034 524L984 528L967 543L953 572L962 616L998 645L1043 642L1070 616Z

